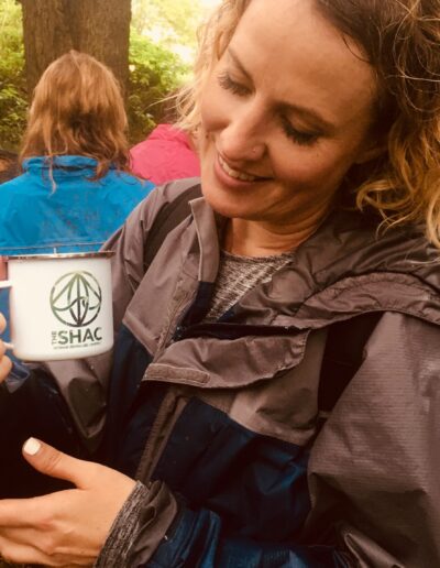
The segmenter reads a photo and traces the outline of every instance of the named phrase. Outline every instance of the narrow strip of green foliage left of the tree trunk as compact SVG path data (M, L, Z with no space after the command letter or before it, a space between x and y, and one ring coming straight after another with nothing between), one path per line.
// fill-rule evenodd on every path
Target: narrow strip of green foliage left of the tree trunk
M28 96L21 8L0 0L0 146L16 149L26 121Z

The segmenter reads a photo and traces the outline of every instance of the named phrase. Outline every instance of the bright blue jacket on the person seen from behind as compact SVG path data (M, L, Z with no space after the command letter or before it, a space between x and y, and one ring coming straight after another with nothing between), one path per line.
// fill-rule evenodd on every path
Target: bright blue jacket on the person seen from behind
M114 166L94 179L97 163L55 156L51 172L45 156L25 160L24 173L0 185L0 255L98 250L154 185ZM7 295L0 312L8 319Z

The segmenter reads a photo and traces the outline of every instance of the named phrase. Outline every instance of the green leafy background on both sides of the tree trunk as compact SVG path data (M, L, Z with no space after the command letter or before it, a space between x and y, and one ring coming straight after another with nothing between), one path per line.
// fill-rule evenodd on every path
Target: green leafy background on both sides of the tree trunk
M132 0L127 111L131 144L161 121L164 103L188 76L207 0ZM0 0L0 148L16 151L29 105L21 7Z

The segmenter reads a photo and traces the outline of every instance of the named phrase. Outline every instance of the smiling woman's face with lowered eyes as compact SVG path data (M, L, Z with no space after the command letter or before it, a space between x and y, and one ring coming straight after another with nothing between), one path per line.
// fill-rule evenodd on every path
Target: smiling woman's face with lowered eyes
M327 211L373 150L375 81L312 0L252 0L202 92L204 193L215 210L288 232Z

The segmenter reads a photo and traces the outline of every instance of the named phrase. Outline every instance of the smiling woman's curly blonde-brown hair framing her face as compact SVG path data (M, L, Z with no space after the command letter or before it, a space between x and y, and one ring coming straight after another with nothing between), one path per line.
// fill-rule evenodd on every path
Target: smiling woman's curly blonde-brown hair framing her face
M200 30L195 78L178 100L184 128L198 127L204 85L251 1L223 0ZM371 135L384 151L353 166L343 190L384 227L421 225L440 248L440 0L311 1L377 78Z

